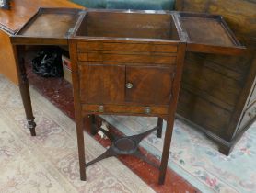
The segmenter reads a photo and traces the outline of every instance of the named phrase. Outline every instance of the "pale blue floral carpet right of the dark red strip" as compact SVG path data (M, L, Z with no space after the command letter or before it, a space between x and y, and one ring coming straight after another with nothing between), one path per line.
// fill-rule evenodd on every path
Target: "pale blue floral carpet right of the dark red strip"
M102 117L126 135L157 125L156 118ZM157 157L160 157L162 145L163 140L155 133L142 142L142 146ZM202 192L256 192L256 123L226 156L219 153L215 143L202 132L176 119L170 149L169 167Z

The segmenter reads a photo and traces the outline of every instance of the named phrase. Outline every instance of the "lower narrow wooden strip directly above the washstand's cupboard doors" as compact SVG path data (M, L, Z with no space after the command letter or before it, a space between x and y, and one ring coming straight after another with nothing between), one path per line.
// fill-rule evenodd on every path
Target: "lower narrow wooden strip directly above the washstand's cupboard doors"
M122 63L156 63L175 64L176 54L148 54L124 51L88 51L77 54L80 62L122 62Z

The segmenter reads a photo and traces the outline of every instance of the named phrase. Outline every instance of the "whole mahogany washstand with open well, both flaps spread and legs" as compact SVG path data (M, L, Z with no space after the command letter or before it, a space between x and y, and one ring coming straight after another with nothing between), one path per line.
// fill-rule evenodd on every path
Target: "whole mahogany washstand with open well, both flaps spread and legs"
M44 28L44 23L55 25ZM85 165L109 156L132 154L159 169L159 184L165 179L186 50L227 55L245 50L220 16L161 11L41 8L11 40L17 51L19 86L32 134L35 134L35 123L26 75L24 79L22 46L69 45L81 179L86 179ZM192 69L193 74L197 71ZM192 80L191 74L185 76ZM210 89L204 80L192 82ZM222 116L229 116L225 111L215 110L214 113L216 117L222 113ZM156 116L158 121L157 127L130 137L113 136L99 128L110 137L111 147L86 163L83 119L92 117L90 129L93 129L96 114ZM167 128L162 158L160 165L155 165L139 152L138 144L156 130L157 137L161 137L163 119L167 120Z

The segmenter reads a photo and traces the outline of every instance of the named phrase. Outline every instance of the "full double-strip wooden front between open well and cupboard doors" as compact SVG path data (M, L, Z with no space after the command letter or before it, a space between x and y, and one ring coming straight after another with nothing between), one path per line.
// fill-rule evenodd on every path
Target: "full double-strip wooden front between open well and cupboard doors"
M175 64L177 46L177 43L83 41L77 43L77 60L80 62Z

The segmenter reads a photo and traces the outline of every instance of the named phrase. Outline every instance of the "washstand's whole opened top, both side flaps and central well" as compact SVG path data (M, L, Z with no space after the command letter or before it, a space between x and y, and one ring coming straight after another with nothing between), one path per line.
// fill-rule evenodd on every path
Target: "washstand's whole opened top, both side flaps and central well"
M186 43L187 51L237 55L245 50L219 15L41 8L11 37L20 45L67 45L69 39Z

